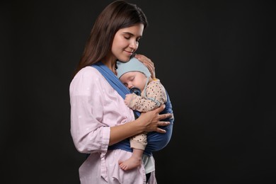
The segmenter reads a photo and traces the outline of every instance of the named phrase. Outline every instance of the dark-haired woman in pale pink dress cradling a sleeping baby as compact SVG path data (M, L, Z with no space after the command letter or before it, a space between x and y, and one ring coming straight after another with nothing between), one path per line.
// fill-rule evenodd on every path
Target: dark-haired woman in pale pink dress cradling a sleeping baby
M93 25L69 88L71 136L76 149L89 154L79 168L82 184L156 183L151 151L161 149L166 144L154 147L156 142L154 138L151 142L149 136L151 150L149 154L144 154L144 164L137 169L123 171L119 161L129 158L132 154L126 146L129 144L129 137L146 131L152 132L152 137L163 139L162 135L171 129L166 131L161 127L170 127L170 122L164 119L172 117L172 114L162 114L165 108L165 105L162 105L156 110L142 113L135 120L133 110L125 105L120 93L110 86L104 74L95 67L100 65L105 72L109 72L110 81L117 82L117 59L122 62L129 61L138 48L139 39L142 38L146 26L146 16L142 10L125 1L109 4ZM141 54L136 57L149 67L154 76L154 64L151 60Z

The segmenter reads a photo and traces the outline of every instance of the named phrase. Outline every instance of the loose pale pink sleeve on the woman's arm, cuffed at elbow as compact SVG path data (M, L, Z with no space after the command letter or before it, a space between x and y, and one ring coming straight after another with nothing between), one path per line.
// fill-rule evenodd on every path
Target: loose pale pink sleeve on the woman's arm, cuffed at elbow
M103 125L100 85L96 74L83 69L71 81L71 137L81 153L101 152L108 149L110 127ZM95 108L97 104L97 108Z

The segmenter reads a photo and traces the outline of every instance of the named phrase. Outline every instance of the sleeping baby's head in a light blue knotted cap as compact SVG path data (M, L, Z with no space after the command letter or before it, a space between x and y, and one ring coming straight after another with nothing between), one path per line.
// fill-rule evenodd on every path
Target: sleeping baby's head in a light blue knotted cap
M132 57L129 62L117 61L117 78L127 88L137 87L142 91L150 76L149 69L135 57Z

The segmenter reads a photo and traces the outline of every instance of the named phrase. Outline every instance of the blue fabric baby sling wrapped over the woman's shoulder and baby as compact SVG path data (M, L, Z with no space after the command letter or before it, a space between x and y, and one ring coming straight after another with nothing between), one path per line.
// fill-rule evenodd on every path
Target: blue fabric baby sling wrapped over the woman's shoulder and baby
M92 64L91 67L94 67L100 71L100 73L105 77L105 79L108 81L110 86L113 86L113 88L117 91L117 93L122 96L123 99L125 99L125 95L127 93L130 93L130 91L127 89L125 85L122 84L122 82L117 79L117 76L111 71L108 67L105 66L102 62L97 62L96 64ZM165 113L173 113L172 105L171 105L171 100L168 96L167 93L167 102L165 103L166 108L160 113L160 114L165 114ZM140 113L136 110L134 110L134 114L137 116L140 115ZM169 121L171 122L170 125L162 127L163 130L166 130L165 134L159 133L159 132L149 132L147 134L147 145L146 149L144 150L144 154L147 154L151 156L153 151L159 151L165 147L168 142L170 142L171 139L171 134L173 132L173 118L167 118L166 120L163 121ZM130 148L130 140L125 139L122 140L121 142L118 142L117 144L113 144L112 146L108 146L108 149L123 149L125 151L132 151Z

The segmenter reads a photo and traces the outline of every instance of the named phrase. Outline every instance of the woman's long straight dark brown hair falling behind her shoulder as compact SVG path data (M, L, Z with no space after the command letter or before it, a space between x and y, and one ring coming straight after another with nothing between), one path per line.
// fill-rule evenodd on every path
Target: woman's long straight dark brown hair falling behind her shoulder
M144 12L136 4L113 1L106 6L93 25L74 75L82 68L99 62L110 52L117 30L137 23L144 24L144 28L148 25Z

